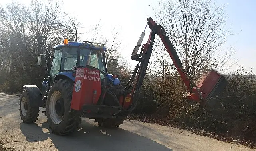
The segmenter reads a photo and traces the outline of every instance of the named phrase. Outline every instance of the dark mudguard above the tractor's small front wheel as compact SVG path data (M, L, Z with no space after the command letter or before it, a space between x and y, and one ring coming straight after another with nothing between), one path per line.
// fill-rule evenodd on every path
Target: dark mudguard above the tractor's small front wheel
M24 85L24 89L28 91L31 107L42 107L42 96L36 85Z

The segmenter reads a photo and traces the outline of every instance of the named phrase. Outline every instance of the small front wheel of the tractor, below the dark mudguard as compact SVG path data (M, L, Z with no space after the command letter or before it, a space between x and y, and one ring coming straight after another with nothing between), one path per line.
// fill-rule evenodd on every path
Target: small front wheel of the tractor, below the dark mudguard
M20 116L24 123L34 123L37 120L39 107L32 107L28 91L25 90L20 96Z

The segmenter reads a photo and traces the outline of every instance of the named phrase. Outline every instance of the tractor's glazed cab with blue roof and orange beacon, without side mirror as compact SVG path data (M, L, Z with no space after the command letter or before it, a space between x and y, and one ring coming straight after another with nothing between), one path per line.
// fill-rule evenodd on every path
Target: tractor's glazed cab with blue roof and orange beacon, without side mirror
M105 51L103 44L84 41L68 42L54 46L54 57L52 57L52 65L50 69L50 82L54 79L66 76L75 80L75 72L77 67L92 66L107 74ZM100 74L101 79L104 75Z

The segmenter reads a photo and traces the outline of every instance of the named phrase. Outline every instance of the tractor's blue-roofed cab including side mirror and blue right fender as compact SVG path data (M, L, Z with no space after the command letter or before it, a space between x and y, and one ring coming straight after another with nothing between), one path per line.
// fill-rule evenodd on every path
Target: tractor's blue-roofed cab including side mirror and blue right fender
M46 55L49 62L48 77L42 82L42 96L46 96L55 80L75 81L77 67L97 68L101 71L99 74L101 83L104 83L106 78L110 85L119 85L119 79L107 73L105 51L104 44L89 41L69 42L64 39L64 43L55 45L53 56L49 53ZM38 57L38 65L41 62L41 56Z

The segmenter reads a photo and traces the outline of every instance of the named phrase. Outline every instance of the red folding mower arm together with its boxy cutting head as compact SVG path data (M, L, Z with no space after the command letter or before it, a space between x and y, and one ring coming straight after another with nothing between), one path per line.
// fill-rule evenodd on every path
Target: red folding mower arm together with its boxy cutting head
M208 73L203 74L198 80L193 81L192 78L189 76L189 73L185 70L185 68L183 68L183 64L179 59L177 51L175 50L173 44L171 43L169 37L167 36L163 26L157 25L157 23L153 21L151 17L147 18L147 25L149 25L149 28L151 29L148 42L143 47L143 51L141 51L142 52L141 54L137 54L131 57L131 59L133 60L142 62L141 59L139 59L139 57L143 55L146 56L143 58L144 62L141 63L142 67L139 67L138 72L141 72L140 69L143 69L143 74L139 75L139 77L141 78L141 77L144 77L145 75L150 54L152 53L153 43L155 41L155 34L157 34L161 38L163 45L165 46L167 52L169 53L171 59L173 60L173 64L175 65L179 75L181 76L181 79L183 80L183 82L185 83L185 86L187 87L188 92L183 98L188 99L195 103L200 102L202 105L208 105L210 107L214 106L214 104L216 103L215 98L218 97L218 94L222 92L222 90L227 84L227 81L225 80L224 76L212 70ZM140 45L140 43L137 45ZM134 52L133 54L136 54L136 53L137 52ZM144 64L145 64L145 67L143 66ZM139 85L140 87L142 82L139 81L139 82L136 82L135 84L137 83L140 84ZM137 87L135 85L133 89L136 89L136 88Z

